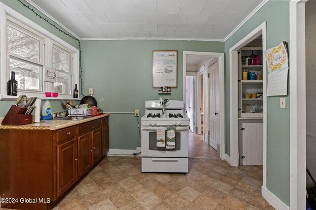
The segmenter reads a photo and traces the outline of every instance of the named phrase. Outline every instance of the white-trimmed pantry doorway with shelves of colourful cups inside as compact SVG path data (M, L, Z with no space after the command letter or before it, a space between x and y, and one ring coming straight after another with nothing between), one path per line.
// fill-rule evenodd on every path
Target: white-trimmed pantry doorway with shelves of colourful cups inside
M258 43L260 46L256 46ZM262 194L268 191L266 189L267 68L265 57L262 54L266 50L266 46L266 22L264 22L230 49L231 145L230 156L226 158L232 166L262 164ZM249 50L250 52L247 52ZM245 52L245 55L242 51ZM259 65L258 63L246 63L247 60L252 60L252 56L256 57L256 55L252 55L254 53L262 58ZM250 73L253 76L258 75L261 80L251 80ZM247 160L245 160L246 158Z

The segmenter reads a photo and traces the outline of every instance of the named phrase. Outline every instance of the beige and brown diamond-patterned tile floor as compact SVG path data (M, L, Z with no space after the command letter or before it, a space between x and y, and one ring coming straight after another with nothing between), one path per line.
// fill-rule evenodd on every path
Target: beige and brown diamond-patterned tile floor
M108 156L54 210L274 209L253 185L262 167L231 167L201 136L189 136L188 174L142 173L140 157Z

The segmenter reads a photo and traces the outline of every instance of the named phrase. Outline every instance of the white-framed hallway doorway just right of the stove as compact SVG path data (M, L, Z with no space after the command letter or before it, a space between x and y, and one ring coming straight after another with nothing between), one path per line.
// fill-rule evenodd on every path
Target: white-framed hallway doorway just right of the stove
M218 75L216 80L217 91L215 97L212 96L210 88L214 87L210 80L210 66L217 62ZM183 52L184 66L184 101L190 103L186 105L186 113L190 118L190 129L196 134L203 136L203 141L208 145L216 142L213 146L220 154L221 159L225 159L225 112L224 112L224 53L206 52ZM214 82L214 81L212 81ZM190 83L188 85L187 83ZM190 98L190 99L189 99ZM217 99L216 111L210 109L210 103ZM214 108L214 106L212 106ZM211 113L216 113L218 124L214 126ZM212 114L214 114L212 113ZM211 131L216 130L216 135ZM210 138L212 137L212 138Z

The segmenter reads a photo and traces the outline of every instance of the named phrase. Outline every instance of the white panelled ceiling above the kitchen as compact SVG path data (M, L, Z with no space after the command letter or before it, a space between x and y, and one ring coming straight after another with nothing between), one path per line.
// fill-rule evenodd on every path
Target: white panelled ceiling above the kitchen
M80 39L225 40L266 0L27 0Z

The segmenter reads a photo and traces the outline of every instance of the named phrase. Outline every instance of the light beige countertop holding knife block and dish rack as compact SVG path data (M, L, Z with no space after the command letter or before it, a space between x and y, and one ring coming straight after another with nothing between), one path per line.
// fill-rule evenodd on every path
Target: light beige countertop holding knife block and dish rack
M103 114L83 120L40 120L40 122L26 124L26 125L0 125L0 129L18 129L18 130L58 130L61 128L77 125L83 122L96 120L109 116L110 114ZM0 122L3 120L0 119Z

